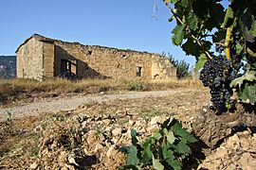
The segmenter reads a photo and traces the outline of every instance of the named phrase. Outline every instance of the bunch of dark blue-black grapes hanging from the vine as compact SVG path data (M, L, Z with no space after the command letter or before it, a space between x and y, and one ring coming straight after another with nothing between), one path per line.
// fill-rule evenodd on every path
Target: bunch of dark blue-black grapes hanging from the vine
M223 56L205 63L199 78L205 87L210 88L210 110L220 114L234 108L234 102L230 99L233 92L229 84L236 77L237 71L232 67L231 61Z

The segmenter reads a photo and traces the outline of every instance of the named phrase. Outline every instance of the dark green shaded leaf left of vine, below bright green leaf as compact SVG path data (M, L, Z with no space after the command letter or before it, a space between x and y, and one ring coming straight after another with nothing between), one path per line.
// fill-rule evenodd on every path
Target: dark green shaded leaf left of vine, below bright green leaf
M186 55L192 55L195 56L196 58L198 58L200 56L200 48L198 47L198 45L194 42L192 42L192 39L188 39L187 42L185 42L184 44L182 44L182 49L183 51L186 53Z

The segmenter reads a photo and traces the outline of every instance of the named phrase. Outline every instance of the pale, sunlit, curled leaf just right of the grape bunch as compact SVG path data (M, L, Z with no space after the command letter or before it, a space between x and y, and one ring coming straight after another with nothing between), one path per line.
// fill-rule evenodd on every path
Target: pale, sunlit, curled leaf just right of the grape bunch
M253 81L256 80L256 72L253 70L248 71L244 76L240 76L238 78L235 78L234 80L232 80L232 82L230 83L230 87L236 87L238 86L238 88L241 88L242 84L244 83L244 81Z

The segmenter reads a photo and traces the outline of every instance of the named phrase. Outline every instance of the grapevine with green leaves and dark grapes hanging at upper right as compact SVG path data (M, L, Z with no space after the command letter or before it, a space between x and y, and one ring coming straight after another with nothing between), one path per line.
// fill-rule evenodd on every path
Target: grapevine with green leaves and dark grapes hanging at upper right
M255 106L256 1L164 2L170 22L176 21L173 43L196 58L199 78L210 88L210 110L217 114L234 110L235 96L238 103Z

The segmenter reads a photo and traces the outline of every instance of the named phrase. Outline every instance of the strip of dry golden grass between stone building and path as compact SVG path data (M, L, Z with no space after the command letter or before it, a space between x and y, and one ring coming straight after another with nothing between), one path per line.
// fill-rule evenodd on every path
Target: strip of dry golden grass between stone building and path
M38 82L29 79L0 79L0 105L31 97L51 97L66 93L100 93L129 91L133 82L140 91L171 90L175 88L202 87L199 80L131 80L131 79L83 79L70 81L56 78Z

